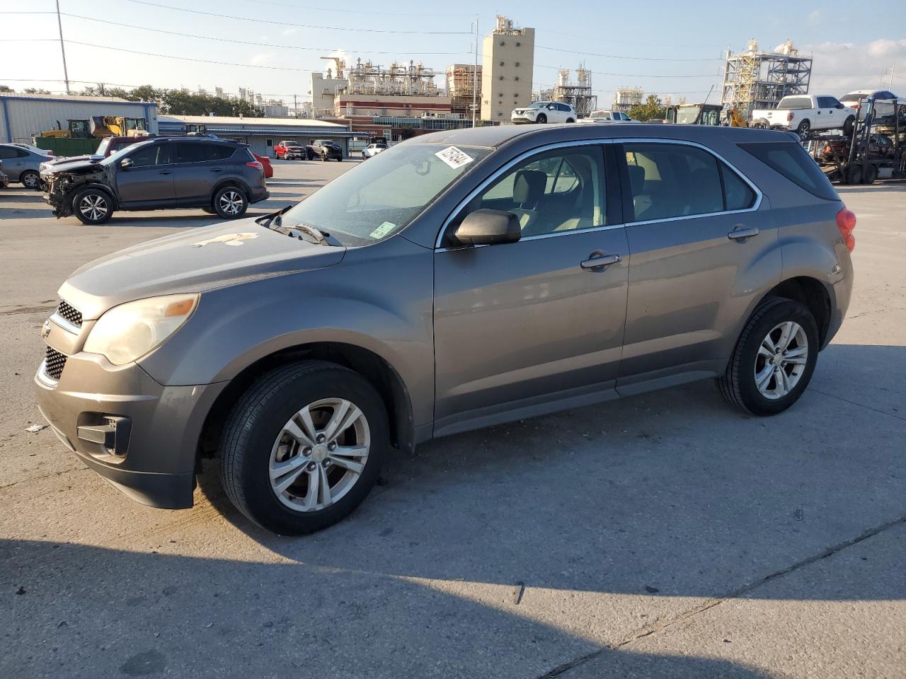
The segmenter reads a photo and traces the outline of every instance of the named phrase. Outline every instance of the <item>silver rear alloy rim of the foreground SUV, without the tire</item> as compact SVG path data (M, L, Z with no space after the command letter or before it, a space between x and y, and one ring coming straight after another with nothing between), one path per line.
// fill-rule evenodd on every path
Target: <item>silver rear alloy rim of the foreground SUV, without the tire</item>
M755 384L765 398L776 400L792 391L805 372L808 338L792 320L778 323L761 340L755 357Z

